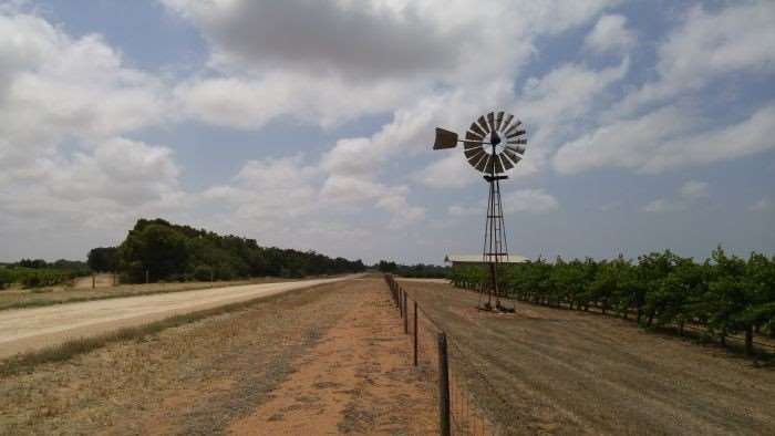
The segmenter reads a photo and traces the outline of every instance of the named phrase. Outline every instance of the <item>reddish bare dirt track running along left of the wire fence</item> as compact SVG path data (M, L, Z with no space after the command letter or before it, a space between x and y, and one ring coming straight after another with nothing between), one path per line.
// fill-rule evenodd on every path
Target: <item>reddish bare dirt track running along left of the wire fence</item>
M361 286L350 310L298 371L249 416L240 435L433 435L435 405L412 367L411 340L382 283Z

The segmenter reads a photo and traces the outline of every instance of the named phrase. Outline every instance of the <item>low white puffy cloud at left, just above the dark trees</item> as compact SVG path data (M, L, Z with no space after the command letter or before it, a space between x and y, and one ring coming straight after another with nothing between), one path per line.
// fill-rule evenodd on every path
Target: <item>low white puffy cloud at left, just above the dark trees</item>
M169 148L121 137L72 157L39 157L0 187L0 212L64 228L127 226L188 206Z

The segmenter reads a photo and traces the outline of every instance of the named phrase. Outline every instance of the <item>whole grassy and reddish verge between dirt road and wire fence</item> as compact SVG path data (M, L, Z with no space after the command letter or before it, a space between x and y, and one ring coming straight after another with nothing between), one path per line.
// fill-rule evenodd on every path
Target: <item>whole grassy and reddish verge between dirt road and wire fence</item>
M400 325L379 279L270 297L0 378L0 434L423 434Z

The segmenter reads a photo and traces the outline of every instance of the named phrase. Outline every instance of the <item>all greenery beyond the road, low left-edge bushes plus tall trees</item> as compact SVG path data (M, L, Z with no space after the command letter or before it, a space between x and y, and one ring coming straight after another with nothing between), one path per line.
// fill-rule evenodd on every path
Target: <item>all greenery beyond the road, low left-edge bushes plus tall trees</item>
M361 260L261 247L255 239L217 235L163 219L140 219L121 245L92 249L86 262L22 259L0 264L0 290L69 287L80 277L101 272L117 274L122 283L155 283L302 278L364 270Z

